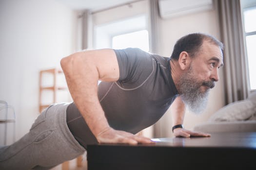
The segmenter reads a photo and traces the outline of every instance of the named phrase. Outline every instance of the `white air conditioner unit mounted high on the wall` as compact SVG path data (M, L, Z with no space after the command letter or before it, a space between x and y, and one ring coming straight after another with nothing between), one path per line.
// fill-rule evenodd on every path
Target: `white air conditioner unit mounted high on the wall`
M213 9L212 0L159 0L158 4L163 19Z

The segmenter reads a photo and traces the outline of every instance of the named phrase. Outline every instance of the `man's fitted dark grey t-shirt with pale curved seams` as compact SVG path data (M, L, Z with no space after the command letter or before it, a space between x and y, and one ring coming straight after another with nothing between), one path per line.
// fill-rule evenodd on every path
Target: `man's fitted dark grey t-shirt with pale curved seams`
M115 50L115 53L119 80L101 82L98 99L112 128L136 134L156 123L178 96L170 61L134 48ZM88 139L94 136L74 102L67 108L67 123L83 146L96 141Z

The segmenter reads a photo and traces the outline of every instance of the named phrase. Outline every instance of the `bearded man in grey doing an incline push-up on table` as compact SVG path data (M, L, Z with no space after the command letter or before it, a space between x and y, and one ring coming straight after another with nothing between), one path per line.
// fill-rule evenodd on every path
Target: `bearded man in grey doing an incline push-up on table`
M74 102L49 106L28 134L1 148L0 168L50 169L97 142L153 143L134 134L157 122L171 104L175 136L210 136L185 130L182 123L185 104L195 112L206 105L219 79L222 49L210 35L189 34L177 41L171 59L131 48L63 58Z

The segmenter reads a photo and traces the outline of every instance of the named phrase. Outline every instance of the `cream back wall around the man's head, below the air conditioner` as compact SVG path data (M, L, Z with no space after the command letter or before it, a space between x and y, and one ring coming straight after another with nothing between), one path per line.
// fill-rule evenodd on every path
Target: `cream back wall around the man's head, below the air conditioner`
M112 10L107 10L93 15L94 25L102 25L111 23L125 17L133 17L140 14L148 13L148 3L146 0L133 3L132 7L122 6ZM163 56L170 56L175 42L181 36L189 33L206 33L220 37L218 19L215 10L198 12L176 18L161 19L160 25L160 53ZM206 111L201 115L194 115L186 112L184 126L187 129L193 127L200 122L206 121L215 111L224 105L224 84L222 70L220 71L220 81L216 87L210 92L209 102ZM172 116L170 111L160 119L161 130L157 137L172 136Z

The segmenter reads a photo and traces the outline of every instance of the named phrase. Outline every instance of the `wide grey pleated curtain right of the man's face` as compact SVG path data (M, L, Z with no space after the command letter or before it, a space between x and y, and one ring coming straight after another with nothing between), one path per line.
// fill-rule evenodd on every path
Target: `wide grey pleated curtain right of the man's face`
M225 100L228 104L248 96L240 0L217 0L217 9L224 44Z

